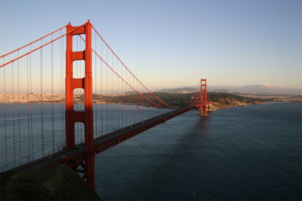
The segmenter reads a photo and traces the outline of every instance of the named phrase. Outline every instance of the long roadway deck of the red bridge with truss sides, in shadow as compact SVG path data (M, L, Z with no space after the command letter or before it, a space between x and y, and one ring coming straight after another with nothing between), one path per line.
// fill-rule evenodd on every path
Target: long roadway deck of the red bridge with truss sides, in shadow
M138 122L134 125L125 127L124 129L116 130L112 133L96 137L94 139L94 152L95 155L101 153L135 135L142 133L154 126L166 122L167 120L174 118L182 113L196 108L190 106L185 109L177 109L171 112L156 116L154 118L147 119L143 122ZM27 169L47 169L56 165L66 164L69 167L78 166L83 160L85 160L85 145L84 143L76 145L74 149L63 150L52 155L49 155L38 160L34 160L28 164L16 167L13 170L27 170Z

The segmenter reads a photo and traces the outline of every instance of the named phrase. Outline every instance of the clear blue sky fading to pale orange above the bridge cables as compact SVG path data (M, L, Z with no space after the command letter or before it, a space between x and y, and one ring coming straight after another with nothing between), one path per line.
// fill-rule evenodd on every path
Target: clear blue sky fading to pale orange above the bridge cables
M151 90L302 93L302 1L0 1L0 54L88 19ZM241 90L241 91L240 91Z

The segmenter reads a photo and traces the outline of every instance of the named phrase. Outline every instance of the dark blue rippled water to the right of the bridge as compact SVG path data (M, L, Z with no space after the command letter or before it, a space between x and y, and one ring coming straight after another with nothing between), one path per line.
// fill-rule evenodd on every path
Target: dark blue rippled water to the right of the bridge
M189 111L97 155L96 192L102 200L301 200L301 111L301 102Z

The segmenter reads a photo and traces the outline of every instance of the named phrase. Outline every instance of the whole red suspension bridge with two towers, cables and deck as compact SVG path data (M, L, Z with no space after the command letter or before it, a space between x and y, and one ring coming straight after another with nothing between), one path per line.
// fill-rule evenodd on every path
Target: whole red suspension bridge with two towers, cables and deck
M96 154L189 110L200 108L207 116L210 104L206 79L188 107L163 102L89 20L69 23L0 59L1 171L65 164L94 188Z

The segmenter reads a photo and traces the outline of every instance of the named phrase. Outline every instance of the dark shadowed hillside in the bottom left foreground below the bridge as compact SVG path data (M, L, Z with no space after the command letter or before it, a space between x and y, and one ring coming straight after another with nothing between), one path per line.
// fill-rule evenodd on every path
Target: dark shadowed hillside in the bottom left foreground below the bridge
M1 200L101 200L67 166L1 173Z

